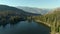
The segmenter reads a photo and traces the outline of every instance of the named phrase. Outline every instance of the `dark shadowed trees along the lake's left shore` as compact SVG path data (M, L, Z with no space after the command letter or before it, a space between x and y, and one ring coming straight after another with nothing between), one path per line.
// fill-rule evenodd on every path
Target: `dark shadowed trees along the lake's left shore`
M20 14L16 14L16 12L0 12L0 25L6 25L6 24L16 24L19 21L25 20L25 17Z

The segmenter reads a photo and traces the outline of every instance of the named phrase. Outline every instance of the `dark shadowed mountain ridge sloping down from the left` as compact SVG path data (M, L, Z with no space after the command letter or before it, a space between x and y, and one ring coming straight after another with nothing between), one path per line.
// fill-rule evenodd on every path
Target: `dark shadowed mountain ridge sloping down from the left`
M2 12L6 12L6 11L7 12L14 12L16 14L25 15L25 16L41 15L41 14L35 14L35 13L26 12L23 9L18 9L16 7L11 7L11 6L7 6L7 5L0 5L0 12L1 11Z

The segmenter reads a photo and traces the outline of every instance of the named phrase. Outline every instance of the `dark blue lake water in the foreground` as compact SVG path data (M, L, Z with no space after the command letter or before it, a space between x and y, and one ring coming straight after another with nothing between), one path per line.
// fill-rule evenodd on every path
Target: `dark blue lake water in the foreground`
M21 21L18 24L0 27L0 34L49 34L49 28L35 22Z

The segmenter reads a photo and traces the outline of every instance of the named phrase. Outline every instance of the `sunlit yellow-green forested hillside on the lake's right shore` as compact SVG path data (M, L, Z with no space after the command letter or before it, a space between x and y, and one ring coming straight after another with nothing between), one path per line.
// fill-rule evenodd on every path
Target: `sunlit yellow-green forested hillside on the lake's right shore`
M60 9L55 9L53 12L50 12L48 14L42 15L42 16L37 16L34 18L35 21L41 21L49 24L51 27L51 32L52 34L59 32L60 28Z

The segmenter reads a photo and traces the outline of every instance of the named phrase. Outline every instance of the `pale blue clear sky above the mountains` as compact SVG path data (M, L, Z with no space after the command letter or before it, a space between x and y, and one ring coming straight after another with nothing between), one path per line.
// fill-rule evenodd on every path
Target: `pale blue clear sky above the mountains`
M0 4L9 6L56 8L60 7L60 0L0 0Z

